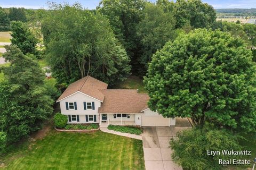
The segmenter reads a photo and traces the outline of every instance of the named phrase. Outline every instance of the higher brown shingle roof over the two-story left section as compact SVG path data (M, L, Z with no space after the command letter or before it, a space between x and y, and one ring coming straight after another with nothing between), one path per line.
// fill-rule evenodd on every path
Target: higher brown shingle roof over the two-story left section
M77 91L83 94L89 95L95 99L103 101L104 95L101 93L101 89L107 89L108 84L90 76L86 76L80 80L71 83L63 94L58 98L57 102L65 97L74 94Z

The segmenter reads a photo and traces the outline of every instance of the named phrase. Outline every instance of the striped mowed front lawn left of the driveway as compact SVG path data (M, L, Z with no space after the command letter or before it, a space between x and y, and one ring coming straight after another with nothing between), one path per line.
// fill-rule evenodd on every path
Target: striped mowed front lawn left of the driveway
M142 141L101 131L51 131L14 153L0 160L3 169L145 169Z

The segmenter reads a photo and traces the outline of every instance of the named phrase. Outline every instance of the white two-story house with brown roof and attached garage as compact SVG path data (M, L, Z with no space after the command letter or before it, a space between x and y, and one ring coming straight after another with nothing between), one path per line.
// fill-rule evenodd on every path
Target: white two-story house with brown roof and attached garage
M61 114L68 123L100 125L174 126L147 106L149 96L137 89L107 89L108 84L90 76L70 84L59 97Z

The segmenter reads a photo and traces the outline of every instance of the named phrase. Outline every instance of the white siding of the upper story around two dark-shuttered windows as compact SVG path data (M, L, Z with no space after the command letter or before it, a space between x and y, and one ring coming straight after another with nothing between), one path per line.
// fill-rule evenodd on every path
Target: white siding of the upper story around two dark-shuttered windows
M84 110L84 101L85 102L92 102L94 101L95 110ZM66 102L76 102L77 110L67 110L66 109ZM101 102L93 99L89 96L83 95L80 92L77 92L74 95L71 95L63 100L60 101L60 111L63 115L86 115L86 114L92 114L92 115L98 115L98 109L101 105Z

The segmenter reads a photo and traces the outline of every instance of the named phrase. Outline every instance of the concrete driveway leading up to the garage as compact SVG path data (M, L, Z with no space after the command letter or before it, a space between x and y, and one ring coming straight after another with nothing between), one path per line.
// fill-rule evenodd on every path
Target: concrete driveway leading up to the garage
M177 118L175 127L143 127L142 142L146 170L181 170L172 161L170 139L178 131L190 128L187 118Z

